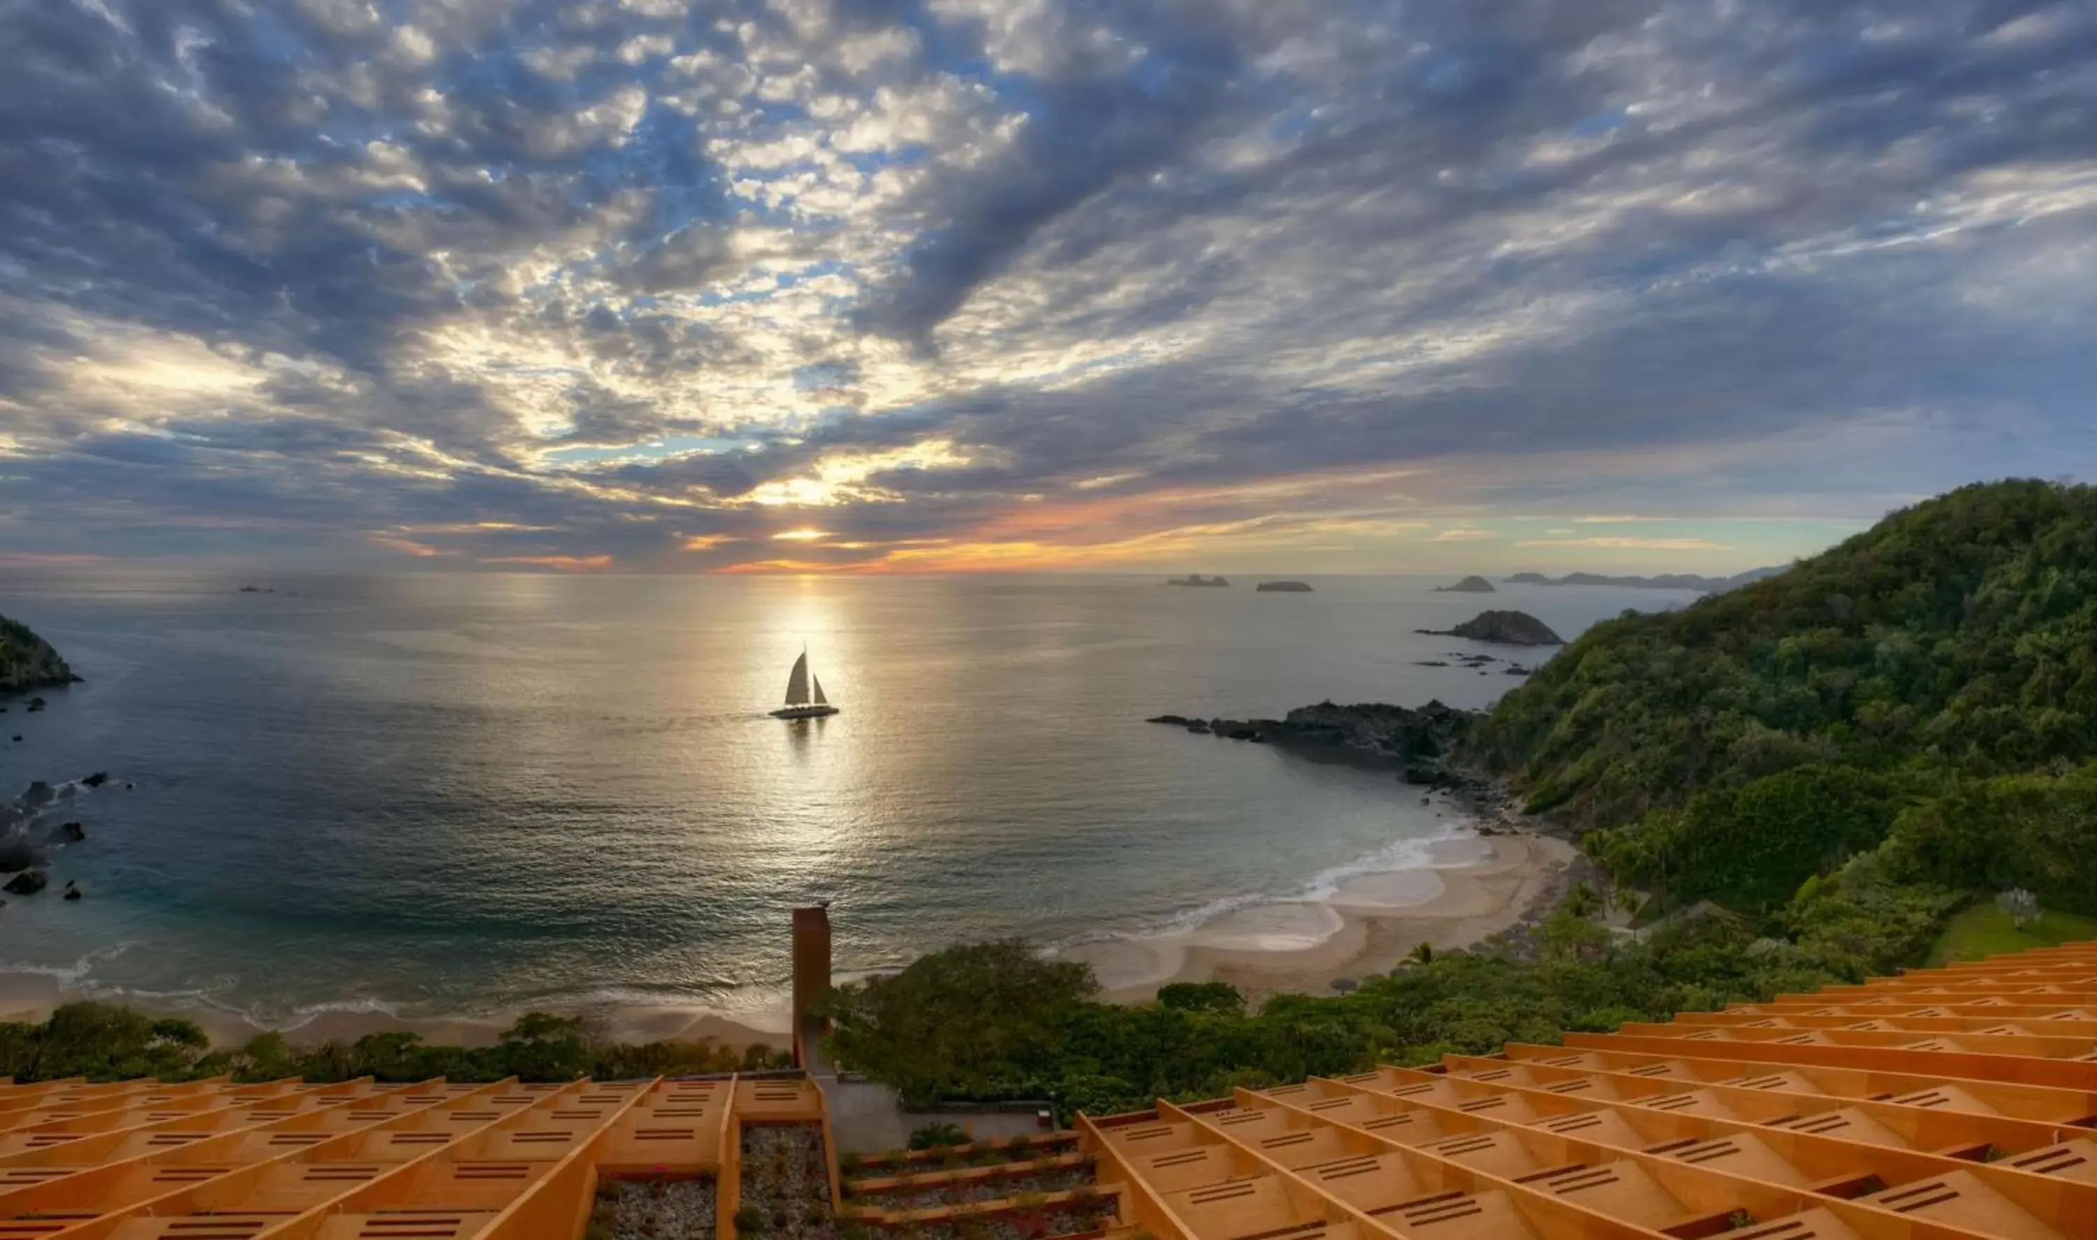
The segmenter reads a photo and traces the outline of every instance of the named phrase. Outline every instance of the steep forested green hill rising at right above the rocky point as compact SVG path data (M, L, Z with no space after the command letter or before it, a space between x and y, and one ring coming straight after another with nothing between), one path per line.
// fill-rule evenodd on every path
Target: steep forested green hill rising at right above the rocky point
M2097 913L2097 491L1990 483L1745 590L1596 625L1474 736L1590 852L1776 911L1894 883Z

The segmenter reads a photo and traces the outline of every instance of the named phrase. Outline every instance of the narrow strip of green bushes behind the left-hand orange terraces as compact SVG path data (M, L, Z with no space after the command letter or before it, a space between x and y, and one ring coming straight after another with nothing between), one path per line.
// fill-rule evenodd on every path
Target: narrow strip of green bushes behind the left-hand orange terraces
M575 1081L596 1076L684 1076L784 1068L788 1055L770 1047L747 1051L715 1043L608 1043L579 1015L528 1013L493 1047L434 1047L411 1032L380 1032L354 1043L294 1047L279 1032L239 1049L212 1049L187 1020L149 1018L107 1003L67 1003L42 1024L0 1024L0 1076L57 1081L86 1076L122 1081L159 1076L193 1081L233 1074L241 1081Z

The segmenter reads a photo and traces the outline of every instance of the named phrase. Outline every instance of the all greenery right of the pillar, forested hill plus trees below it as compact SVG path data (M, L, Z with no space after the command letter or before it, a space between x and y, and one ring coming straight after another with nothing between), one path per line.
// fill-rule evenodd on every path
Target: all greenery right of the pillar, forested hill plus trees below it
M1600 623L1468 755L1585 831L1648 913L1688 915L1634 942L1590 894L1535 957L1487 944L1258 1011L1214 984L1103 1005L1082 965L960 946L841 988L833 1055L912 1099L1111 1112L1860 980L1940 938L2097 932L2063 913L2097 913L2097 491L1967 487L1768 581ZM2013 885L2049 908L2024 932L1990 900Z

